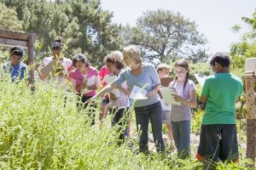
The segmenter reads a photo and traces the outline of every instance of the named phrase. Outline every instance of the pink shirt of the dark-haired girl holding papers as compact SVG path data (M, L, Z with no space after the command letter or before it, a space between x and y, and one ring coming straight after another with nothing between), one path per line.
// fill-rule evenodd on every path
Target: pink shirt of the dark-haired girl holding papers
M89 71L87 72L85 78L90 78L90 77L98 77L99 73L96 70L96 68L94 68L93 66L89 66ZM70 77L75 80L77 82L77 85L80 85L83 80L83 74L78 70L78 69L74 69L71 73L70 73ZM80 92L77 91L77 94L80 94ZM83 94L85 96L94 96L96 94L96 90L93 90L87 94Z

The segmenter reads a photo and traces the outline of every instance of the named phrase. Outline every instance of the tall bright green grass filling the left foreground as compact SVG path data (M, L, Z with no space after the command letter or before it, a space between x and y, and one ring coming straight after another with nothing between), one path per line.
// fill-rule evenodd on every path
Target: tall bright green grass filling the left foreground
M90 126L76 96L54 83L0 82L0 169L201 169L175 154L137 153L137 140L118 146L110 118ZM65 104L65 97L67 103ZM96 111L98 115L98 111ZM86 122L86 123L85 123ZM223 164L221 165L224 166Z

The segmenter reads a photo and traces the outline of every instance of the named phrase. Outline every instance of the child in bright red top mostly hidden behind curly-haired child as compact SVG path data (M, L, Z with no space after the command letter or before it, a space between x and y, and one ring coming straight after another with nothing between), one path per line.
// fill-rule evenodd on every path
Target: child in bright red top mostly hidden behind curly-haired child
M104 81L104 77L108 76L110 72L108 71L108 68L106 65L102 66L102 69L99 71L99 77L100 82L103 86L103 88L107 85L107 83ZM108 94L102 96L101 101L101 113L99 116L99 121L102 122L102 120L107 116L108 112L108 103L109 103L109 96Z

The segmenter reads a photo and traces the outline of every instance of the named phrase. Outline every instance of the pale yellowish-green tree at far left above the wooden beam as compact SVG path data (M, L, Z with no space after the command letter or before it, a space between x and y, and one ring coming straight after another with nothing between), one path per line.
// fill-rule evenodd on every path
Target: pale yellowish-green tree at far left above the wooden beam
M18 19L14 9L7 8L3 3L0 3L0 29L20 31L22 22Z

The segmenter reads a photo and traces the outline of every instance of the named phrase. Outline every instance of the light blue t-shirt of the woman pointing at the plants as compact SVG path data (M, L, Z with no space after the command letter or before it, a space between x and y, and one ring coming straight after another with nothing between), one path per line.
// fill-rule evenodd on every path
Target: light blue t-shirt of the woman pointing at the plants
M113 83L120 85L125 81L127 82L128 88L130 90L132 90L133 86L136 85L150 92L156 85L160 85L160 79L154 68L154 65L148 63L143 63L143 71L141 72L141 74L137 76L131 74L131 68L123 70L119 74L119 77L117 77L117 79L113 81ZM158 94L154 94L148 99L137 99L137 101L134 104L134 107L152 105L158 101Z

